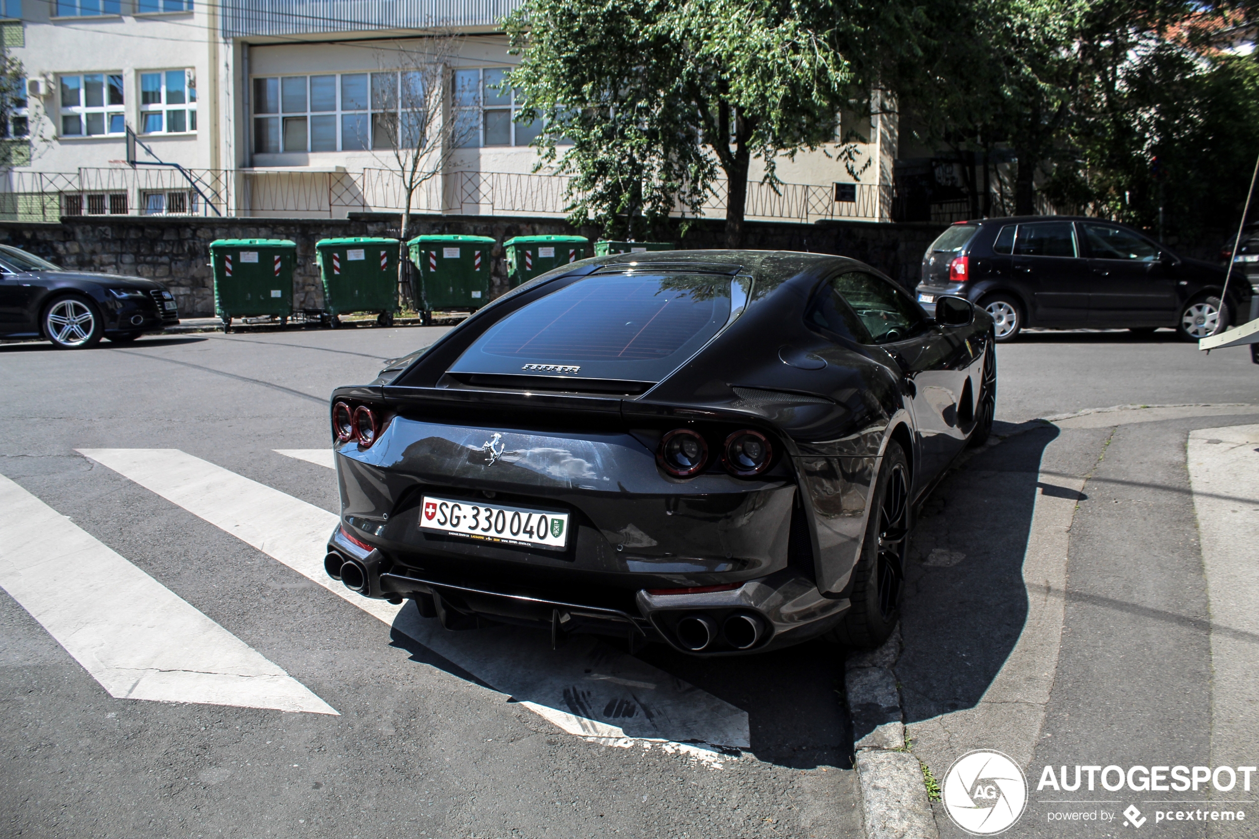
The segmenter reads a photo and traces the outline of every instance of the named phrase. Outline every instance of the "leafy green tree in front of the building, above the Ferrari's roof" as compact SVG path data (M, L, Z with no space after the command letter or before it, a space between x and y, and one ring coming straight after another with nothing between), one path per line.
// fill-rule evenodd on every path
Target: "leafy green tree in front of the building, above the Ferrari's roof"
M526 0L506 29L521 118L544 121L543 161L574 176L570 220L611 234L699 214L720 172L739 247L752 161L777 182L777 157L832 142L864 96L844 50L861 26L828 4Z

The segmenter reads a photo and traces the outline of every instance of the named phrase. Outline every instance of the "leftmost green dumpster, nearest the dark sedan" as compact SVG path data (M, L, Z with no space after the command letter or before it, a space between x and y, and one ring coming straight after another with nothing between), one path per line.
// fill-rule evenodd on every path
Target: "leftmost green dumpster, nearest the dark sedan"
M215 239L210 243L214 268L214 312L223 331L234 317L278 317L293 313L293 263L297 243L288 239Z

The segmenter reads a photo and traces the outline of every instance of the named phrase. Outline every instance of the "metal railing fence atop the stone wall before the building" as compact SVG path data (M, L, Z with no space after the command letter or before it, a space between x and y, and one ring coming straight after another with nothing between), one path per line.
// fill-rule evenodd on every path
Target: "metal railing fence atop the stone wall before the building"
M573 196L563 175L447 172L412 195L413 213L540 215L568 213ZM704 218L724 218L728 189L714 185ZM398 175L295 170L79 169L77 172L0 171L0 219L57 221L79 215L345 218L397 213L405 205ZM749 220L822 219L888 221L891 187L872 184L762 184L749 181Z

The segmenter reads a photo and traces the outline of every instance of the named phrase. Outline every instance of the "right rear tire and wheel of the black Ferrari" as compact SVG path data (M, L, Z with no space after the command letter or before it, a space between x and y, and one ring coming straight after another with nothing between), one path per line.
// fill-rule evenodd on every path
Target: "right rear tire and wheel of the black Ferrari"
M895 442L888 443L875 487L861 558L852 569L852 605L830 640L852 649L875 649L900 619L909 550L909 463Z

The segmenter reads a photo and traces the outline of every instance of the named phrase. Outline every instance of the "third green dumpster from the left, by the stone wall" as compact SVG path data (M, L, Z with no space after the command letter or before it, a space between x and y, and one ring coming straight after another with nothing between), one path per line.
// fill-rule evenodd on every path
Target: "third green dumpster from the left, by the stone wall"
M475 312L490 302L488 236L415 236L407 243L419 269L419 311L432 323L434 311Z

